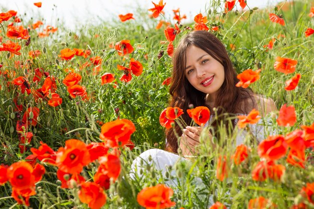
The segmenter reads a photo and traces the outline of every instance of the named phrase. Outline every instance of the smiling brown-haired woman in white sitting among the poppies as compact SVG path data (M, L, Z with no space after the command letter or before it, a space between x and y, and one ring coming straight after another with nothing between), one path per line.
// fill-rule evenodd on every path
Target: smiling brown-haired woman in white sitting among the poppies
M191 118L186 113L189 105L206 106L210 109L210 123L214 130L219 124L225 124L228 129L230 116L233 116L232 129L236 127L235 115L246 115L252 109L259 110L261 116L277 110L272 99L265 99L254 94L250 89L236 87L237 73L224 45L213 34L206 31L194 31L185 36L179 43L173 58L172 84L170 87L171 107L183 109L186 124L191 124ZM213 120L212 118L214 118ZM208 122L208 123L209 123ZM261 124L250 127L257 141L263 140L264 130ZM175 130L174 130L175 129ZM166 165L174 165L183 156L197 155L195 147L200 144L202 127L187 126L181 130L178 124L175 128L166 130L166 150L150 149L143 152L132 163L132 170L140 166L140 159L152 159L156 168L166 172ZM213 133L209 133L212 136ZM180 142L178 137L181 135ZM219 134L215 136L219 138ZM236 138L236 145L243 143L244 133ZM173 152L173 153L171 153ZM150 157L149 157L150 156Z

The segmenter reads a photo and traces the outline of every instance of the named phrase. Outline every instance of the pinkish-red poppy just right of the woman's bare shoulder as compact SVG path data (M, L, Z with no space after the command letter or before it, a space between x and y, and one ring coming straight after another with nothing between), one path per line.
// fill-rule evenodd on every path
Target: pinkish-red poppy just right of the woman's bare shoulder
M284 104L279 110L279 116L277 118L279 126L293 126L296 122L296 114L294 107Z

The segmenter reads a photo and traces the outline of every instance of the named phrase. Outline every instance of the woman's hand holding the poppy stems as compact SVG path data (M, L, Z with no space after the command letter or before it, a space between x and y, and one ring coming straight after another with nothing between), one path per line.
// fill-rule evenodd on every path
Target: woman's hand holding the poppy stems
M195 147L200 144L200 135L203 127L187 126L183 129L179 147L183 155L195 155Z

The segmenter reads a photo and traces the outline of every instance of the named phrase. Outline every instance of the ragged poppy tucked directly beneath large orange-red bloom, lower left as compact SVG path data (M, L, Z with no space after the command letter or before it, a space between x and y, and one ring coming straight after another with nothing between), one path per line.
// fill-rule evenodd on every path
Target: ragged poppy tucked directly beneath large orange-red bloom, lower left
M71 174L60 169L57 171L57 178L61 181L61 188L73 188L73 183L80 184L85 182L85 178L80 174Z

